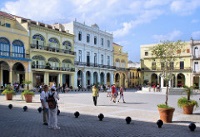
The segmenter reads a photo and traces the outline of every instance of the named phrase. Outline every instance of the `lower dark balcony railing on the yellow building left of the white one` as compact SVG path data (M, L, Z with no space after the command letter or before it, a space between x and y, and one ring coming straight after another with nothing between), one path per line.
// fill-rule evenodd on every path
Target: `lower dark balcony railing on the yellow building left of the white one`
M48 66L48 65L32 65L32 69L48 69L48 70L75 72L75 68L73 67L57 67L57 66Z

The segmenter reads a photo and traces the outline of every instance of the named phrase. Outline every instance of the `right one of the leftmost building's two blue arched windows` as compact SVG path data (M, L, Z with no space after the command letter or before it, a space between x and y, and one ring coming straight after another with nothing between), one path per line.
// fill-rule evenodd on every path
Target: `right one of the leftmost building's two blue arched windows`
M12 56L18 58L25 57L24 44L20 40L15 40L12 43Z

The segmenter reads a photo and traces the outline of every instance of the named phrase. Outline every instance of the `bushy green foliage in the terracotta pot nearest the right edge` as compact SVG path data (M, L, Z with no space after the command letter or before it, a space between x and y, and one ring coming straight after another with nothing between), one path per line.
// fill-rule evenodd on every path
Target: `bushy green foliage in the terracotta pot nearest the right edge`
M195 100L188 100L186 97L182 97L177 102L178 107L182 108L184 106L194 105L196 108L199 107L199 104Z

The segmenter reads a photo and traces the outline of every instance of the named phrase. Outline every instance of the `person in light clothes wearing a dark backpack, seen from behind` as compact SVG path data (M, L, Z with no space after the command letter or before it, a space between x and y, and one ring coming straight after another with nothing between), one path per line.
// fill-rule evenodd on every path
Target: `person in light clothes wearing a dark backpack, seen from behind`
M48 105L49 105L49 123L48 126L49 128L52 129L60 129L60 127L58 127L58 118L57 118L57 111L58 111L58 107L57 107L57 101L59 100L59 95L56 92L55 88L51 88L51 91L48 95Z

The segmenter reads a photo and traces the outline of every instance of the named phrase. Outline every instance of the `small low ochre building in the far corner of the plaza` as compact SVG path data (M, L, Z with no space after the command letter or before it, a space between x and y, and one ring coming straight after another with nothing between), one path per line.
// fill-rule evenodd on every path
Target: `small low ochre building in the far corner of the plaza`
M141 84L141 66L139 62L128 62L128 87L136 87Z

